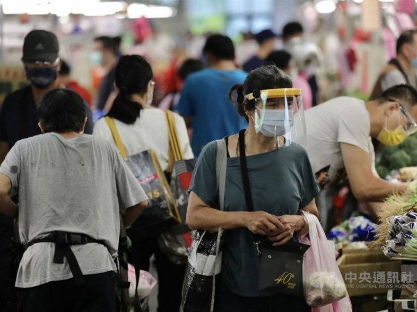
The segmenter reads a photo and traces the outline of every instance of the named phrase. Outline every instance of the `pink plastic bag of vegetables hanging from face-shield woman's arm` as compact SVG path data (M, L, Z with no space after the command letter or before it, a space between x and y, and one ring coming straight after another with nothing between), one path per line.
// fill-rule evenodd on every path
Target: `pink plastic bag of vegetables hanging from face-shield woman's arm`
M352 305L336 262L335 244L326 238L318 219L305 213L309 235L300 243L311 245L304 254L304 295L312 312L351 312ZM310 237L309 237L310 236Z

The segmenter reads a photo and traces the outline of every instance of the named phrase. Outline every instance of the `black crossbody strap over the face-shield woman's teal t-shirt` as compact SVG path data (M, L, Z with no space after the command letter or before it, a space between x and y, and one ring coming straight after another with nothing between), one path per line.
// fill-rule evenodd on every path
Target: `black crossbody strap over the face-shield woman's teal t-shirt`
M252 200L251 185L249 183L248 165L246 163L245 153L245 130L240 130L238 133L237 141L239 143L239 159L240 159L240 171L242 172L243 190L245 193L246 209L250 212L255 211ZM262 235L254 234L254 244L258 251L258 255L261 255L261 238Z

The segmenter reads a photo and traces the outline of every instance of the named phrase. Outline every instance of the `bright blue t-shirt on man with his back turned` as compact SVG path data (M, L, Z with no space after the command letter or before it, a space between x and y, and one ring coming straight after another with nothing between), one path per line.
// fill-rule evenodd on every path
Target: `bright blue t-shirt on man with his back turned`
M193 119L191 148L194 156L197 157L210 141L246 128L245 118L237 114L236 105L228 96L230 88L243 83L246 75L241 70L207 68L185 80L177 110Z

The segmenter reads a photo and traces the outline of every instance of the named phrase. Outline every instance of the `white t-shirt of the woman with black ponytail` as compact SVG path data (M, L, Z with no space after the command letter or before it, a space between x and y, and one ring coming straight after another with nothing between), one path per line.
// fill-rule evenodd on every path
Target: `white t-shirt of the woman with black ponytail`
M191 150L184 119L176 113L174 113L174 116L182 153L185 159L191 159L194 155ZM142 109L140 117L131 125L117 119L114 121L128 156L152 149L158 157L162 170L166 170L168 166L169 138L165 112L163 110L157 108ZM104 118L96 123L93 134L105 138L116 146Z

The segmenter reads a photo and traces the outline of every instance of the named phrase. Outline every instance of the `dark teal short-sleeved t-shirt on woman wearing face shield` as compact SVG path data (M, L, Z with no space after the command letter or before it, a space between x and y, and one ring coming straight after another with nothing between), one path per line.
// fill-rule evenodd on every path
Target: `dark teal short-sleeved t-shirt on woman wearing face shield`
M207 205L216 200L216 152L211 142L200 154L190 190ZM248 176L255 210L280 216L296 214L318 193L306 150L290 145L254 156L247 156ZM239 157L227 159L225 211L246 211ZM222 281L241 296L259 297L274 294L259 290L260 259L247 228L227 230L224 236ZM279 265L279 263L277 263Z

